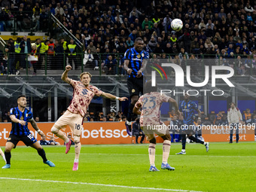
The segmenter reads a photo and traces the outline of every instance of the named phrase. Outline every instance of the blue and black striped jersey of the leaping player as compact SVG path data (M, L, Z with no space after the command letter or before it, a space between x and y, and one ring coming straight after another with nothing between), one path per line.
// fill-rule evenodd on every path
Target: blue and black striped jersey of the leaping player
M133 69L133 72L131 75L128 75L128 78L136 78L137 72L142 67L142 61L143 59L149 59L149 54L145 50L142 50L140 53L138 53L135 48L130 48L126 50L124 53L124 60L129 60L129 69ZM142 74L143 75L143 74Z

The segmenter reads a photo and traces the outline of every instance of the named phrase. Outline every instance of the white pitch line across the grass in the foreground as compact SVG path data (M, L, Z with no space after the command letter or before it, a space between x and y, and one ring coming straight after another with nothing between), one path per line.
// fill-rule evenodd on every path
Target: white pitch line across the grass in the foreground
M41 181L41 182L52 182L52 183L64 183L64 184L87 184L87 185L96 185L96 186L105 186L105 187L121 187L121 188L131 188L131 189L142 189L142 190L167 190L167 191L181 191L181 192L202 192L196 190L178 190L178 189L165 189L165 188L154 188L154 187L133 187L125 185L115 185L115 184L97 184L97 183L84 183L84 182L71 182L71 181L50 181L42 179L31 179L31 178L5 178L0 177L0 179L7 180L20 180L20 181Z

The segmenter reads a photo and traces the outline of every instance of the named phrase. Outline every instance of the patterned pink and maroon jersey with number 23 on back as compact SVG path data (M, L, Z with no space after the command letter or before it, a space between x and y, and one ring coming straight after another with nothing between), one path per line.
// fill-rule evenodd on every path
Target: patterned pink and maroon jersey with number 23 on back
M162 124L160 121L160 107L163 102L168 102L170 98L157 92L146 93L141 96L135 105L136 108L142 108L141 126Z

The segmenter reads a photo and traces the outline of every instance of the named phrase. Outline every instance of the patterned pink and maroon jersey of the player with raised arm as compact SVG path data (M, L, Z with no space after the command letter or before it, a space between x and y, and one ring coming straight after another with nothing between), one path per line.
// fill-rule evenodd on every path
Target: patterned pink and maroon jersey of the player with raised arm
M72 79L70 79L69 84L73 87L73 99L68 110L74 114L81 114L81 116L84 117L93 96L100 96L102 91L90 84L88 87L85 87L81 81Z

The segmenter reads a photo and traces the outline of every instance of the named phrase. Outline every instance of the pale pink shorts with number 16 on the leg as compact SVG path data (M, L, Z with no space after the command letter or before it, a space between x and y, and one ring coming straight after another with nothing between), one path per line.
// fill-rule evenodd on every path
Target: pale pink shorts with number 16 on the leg
M69 110L67 110L61 117L54 123L54 127L58 130L66 130L66 126L69 125L70 130L74 135L80 136L81 129L83 127L84 118L81 114L73 114Z

